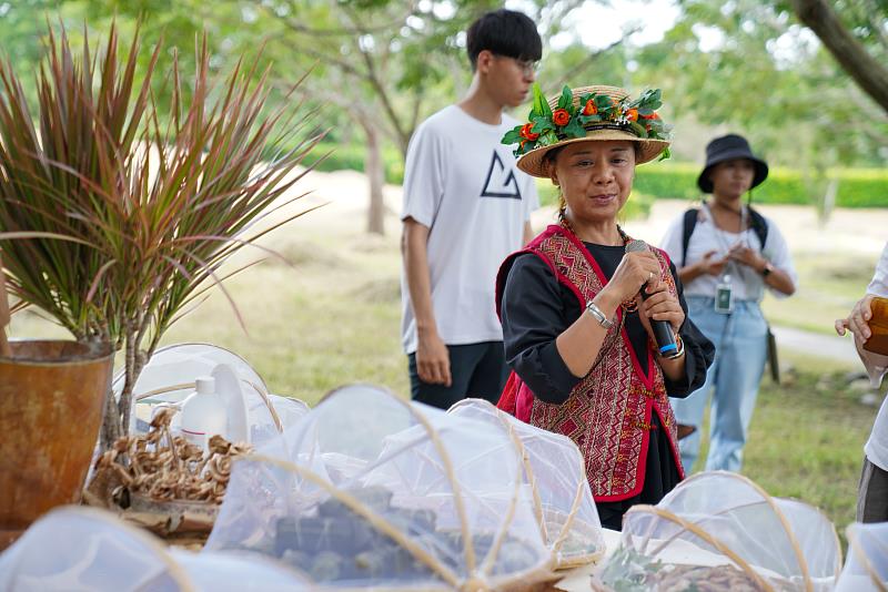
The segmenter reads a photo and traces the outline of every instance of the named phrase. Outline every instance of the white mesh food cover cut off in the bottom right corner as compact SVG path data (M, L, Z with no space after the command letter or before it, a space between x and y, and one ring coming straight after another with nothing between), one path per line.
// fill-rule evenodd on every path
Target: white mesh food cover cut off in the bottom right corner
M848 535L848 559L836 592L884 592L888 590L888 522L854 522Z

